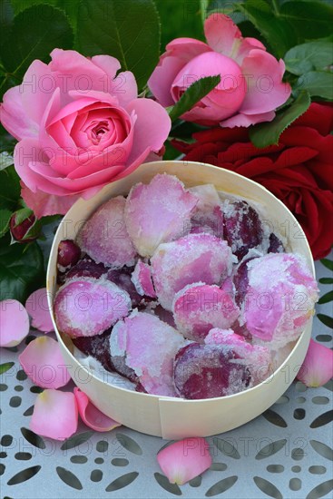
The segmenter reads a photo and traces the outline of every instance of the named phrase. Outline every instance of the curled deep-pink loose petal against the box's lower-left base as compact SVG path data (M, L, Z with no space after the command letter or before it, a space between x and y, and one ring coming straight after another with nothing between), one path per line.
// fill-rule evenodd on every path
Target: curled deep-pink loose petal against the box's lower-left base
M96 432L109 432L113 430L113 428L121 426L120 423L117 423L111 417L103 414L97 407L93 406L93 403L89 400L88 396L77 387L74 388L74 396L79 415L81 416L83 423L85 423L86 426L89 426L89 428L93 428Z

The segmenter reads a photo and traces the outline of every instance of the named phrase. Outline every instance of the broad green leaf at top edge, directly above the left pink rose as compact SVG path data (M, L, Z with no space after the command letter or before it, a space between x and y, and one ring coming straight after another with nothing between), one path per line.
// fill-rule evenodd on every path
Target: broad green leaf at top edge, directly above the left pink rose
M77 40L85 55L109 54L132 71L139 89L159 60L160 22L152 0L84 0Z

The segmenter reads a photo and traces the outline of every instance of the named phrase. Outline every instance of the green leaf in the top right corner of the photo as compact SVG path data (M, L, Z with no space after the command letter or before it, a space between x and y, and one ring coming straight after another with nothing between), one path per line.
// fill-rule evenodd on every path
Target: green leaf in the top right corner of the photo
M281 5L279 16L292 25L300 41L329 36L333 8L322 2L291 0Z

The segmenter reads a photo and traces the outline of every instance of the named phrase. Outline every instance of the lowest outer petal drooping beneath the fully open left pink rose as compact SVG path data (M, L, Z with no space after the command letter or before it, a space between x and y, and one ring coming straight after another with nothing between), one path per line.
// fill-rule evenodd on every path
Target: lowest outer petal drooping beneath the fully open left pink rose
M64 215L73 206L73 203L80 198L78 194L55 196L38 189L33 192L24 185L23 181L21 181L21 196L26 205L34 211L37 219L47 215Z

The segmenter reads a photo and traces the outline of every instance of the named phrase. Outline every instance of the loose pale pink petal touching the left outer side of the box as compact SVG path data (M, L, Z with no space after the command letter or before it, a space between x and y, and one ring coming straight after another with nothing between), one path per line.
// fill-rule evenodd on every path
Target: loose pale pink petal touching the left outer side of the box
M32 318L31 325L34 328L44 331L44 333L49 333L54 330L50 308L47 303L46 288L34 291L26 300L25 308Z

